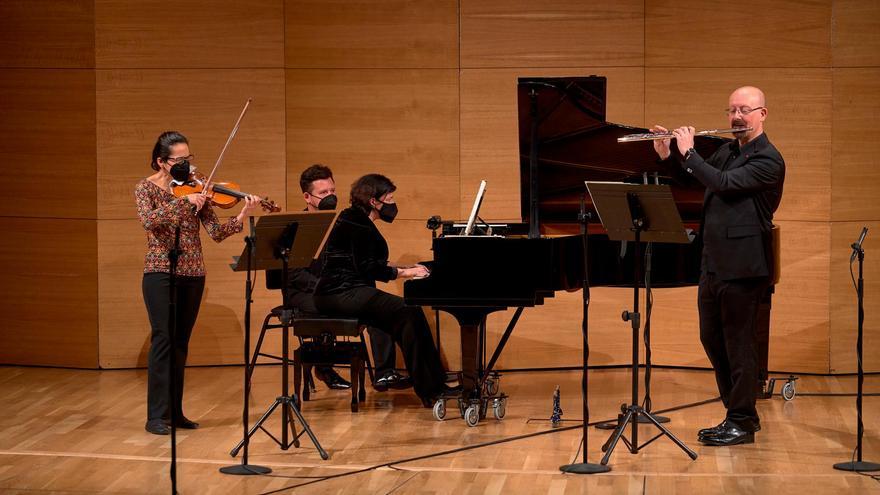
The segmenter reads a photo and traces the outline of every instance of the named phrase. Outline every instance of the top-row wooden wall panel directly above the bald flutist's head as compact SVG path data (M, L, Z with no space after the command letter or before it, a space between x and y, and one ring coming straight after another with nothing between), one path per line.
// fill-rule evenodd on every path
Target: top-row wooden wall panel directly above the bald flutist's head
M650 0L648 67L828 67L831 1ZM723 108L723 107L722 107Z

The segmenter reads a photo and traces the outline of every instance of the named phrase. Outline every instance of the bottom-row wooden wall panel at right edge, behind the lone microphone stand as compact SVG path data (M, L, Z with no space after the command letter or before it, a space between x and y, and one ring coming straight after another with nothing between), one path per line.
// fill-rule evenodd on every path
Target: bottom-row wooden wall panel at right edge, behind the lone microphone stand
M865 371L880 371L880 262L878 249L880 221L834 222L831 224L831 369L832 373L855 373L856 336L858 335L858 301L853 279L850 278L850 244L856 242L862 226L868 227L868 236L862 247L865 250L865 322L862 366ZM853 277L858 280L859 262L852 265Z

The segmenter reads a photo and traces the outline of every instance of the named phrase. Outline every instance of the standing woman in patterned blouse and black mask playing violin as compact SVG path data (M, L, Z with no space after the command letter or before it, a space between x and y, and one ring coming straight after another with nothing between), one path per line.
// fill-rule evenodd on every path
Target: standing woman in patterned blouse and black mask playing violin
M142 289L152 335L147 369L147 423L145 429L155 435L167 435L170 429L170 408L176 408L178 428L195 429L198 423L183 415L183 373L187 347L192 334L202 291L205 288L205 263L199 240L199 224L216 242L242 231L243 220L260 204L260 198L247 196L238 216L221 223L203 193L176 197L172 177L186 177L190 172L189 143L182 134L162 133L153 147L150 166L153 175L138 182L135 188L138 216L147 231L147 253L144 259ZM177 318L175 341L169 334L169 273L168 253L174 248L176 230L180 229L177 262ZM169 377L169 358L174 355L175 376ZM174 404L168 403L169 380L176 385Z

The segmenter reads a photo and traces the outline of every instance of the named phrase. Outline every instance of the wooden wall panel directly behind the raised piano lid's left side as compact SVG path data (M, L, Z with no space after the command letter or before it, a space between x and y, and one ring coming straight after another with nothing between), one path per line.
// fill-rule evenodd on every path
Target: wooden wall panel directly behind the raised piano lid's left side
M644 71L641 68L466 69L461 72L461 202L467 215L481 179L488 192L480 216L520 218L518 77L600 75L608 78L607 118L644 122Z

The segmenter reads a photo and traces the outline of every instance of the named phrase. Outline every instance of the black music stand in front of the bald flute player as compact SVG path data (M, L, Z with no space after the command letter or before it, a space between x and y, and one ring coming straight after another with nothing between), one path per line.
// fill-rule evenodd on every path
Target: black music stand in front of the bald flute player
M617 428L602 446L605 452L601 464L608 464L617 442L623 442L633 454L646 447L654 440L665 435L681 448L691 459L697 453L688 448L681 440L663 426L653 414L639 405L639 284L642 278L642 242L668 242L686 244L689 242L687 233L681 223L681 217L672 199L672 190L667 185L625 184L622 182L586 182L587 191L593 200L596 212L602 225L612 241L634 241L635 257L633 279L633 311L623 311L623 320L632 326L632 403L621 406L621 416ZM639 444L639 418L644 417L654 424L660 433ZM632 425L630 439L623 437L627 424Z

